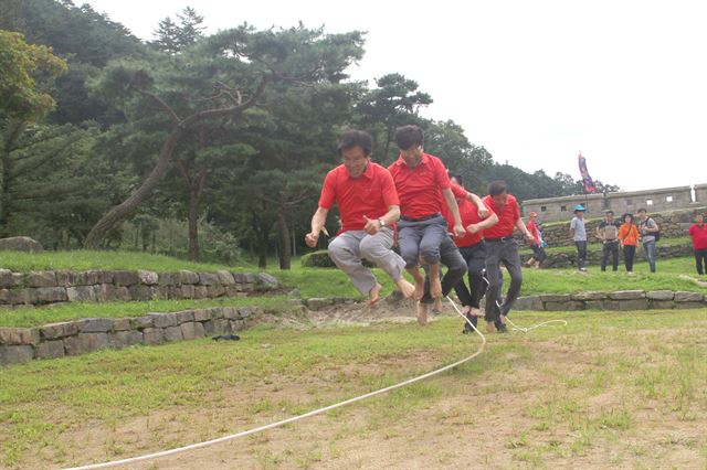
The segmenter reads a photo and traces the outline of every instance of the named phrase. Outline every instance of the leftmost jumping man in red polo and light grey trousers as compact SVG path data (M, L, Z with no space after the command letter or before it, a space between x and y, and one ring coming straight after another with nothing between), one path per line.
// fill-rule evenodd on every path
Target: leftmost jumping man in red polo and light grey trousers
M329 243L329 257L346 273L356 288L374 305L381 285L365 258L386 271L403 297L412 296L414 286L403 277L405 261L394 253L391 225L400 216L400 202L388 170L371 162L373 140L367 132L350 130L339 140L344 164L327 173L321 188L319 207L312 217L312 232L305 235L307 246L315 247L327 214L334 203L339 206L341 229Z

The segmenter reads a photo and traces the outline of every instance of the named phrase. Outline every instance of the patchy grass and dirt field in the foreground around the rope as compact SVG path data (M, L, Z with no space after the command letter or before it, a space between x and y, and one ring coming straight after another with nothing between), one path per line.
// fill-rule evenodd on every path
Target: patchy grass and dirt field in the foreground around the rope
M550 313L519 313L519 324ZM439 377L131 468L705 468L707 310L552 312ZM474 352L457 319L258 327L0 368L0 466L59 468L235 432Z

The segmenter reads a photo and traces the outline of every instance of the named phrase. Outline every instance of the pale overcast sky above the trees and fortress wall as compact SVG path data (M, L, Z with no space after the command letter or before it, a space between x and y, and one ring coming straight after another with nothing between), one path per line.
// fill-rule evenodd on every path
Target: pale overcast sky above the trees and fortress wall
M76 3L81 3L77 0ZM137 1L94 9L152 39L193 6L207 32L236 26L367 31L350 71L398 72L498 162L642 190L707 183L707 2L696 1Z

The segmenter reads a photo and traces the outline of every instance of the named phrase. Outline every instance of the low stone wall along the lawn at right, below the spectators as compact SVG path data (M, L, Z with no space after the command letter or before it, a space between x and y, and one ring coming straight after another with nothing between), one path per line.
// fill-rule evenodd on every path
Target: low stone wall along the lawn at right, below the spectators
M520 297L515 310L648 310L707 308L707 299L699 292L672 290L619 290L615 292L548 293Z

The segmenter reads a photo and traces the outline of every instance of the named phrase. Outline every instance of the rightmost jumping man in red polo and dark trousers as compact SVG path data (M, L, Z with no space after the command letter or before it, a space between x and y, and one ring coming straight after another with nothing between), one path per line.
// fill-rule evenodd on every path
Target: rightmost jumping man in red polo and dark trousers
M488 195L484 197L486 206L498 216L498 223L484 231L484 246L486 248L486 277L488 288L486 290L486 327L488 331L494 329L506 331L506 316L520 293L523 284L523 268L518 244L513 237L514 228L518 228L526 242L534 241L526 224L520 218L520 207L513 194L508 194L505 181L494 181L488 185ZM500 264L506 266L510 275L510 286L506 292L506 299L499 306L500 314L496 317L494 303L500 299Z

